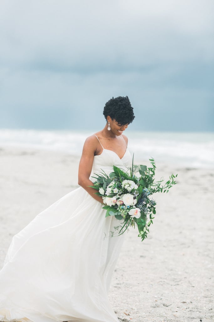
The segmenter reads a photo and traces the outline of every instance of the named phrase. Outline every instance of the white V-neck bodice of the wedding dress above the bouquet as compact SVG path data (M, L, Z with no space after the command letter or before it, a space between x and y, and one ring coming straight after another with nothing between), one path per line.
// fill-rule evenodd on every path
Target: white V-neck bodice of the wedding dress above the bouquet
M121 159L116 152L103 149L101 154L94 156L90 180L94 182L96 179L92 178L92 176L94 176L94 174L99 174L101 170L108 175L113 171L113 166L128 170L131 167L131 164L132 157L128 149L126 149L124 156Z

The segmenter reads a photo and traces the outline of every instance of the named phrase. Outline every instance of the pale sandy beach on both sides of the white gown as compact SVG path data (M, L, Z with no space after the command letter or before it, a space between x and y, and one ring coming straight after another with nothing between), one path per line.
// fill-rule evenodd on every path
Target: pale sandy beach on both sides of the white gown
M0 268L14 234L78 187L79 157L24 148L0 149ZM157 164L157 179L178 173L158 194L147 240L130 230L109 298L121 321L214 320L213 170Z

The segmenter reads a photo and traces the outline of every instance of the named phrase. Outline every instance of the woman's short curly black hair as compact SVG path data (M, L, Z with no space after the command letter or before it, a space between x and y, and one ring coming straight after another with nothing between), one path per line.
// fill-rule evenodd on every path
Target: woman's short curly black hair
M109 115L121 125L130 124L135 118L133 107L128 96L118 96L116 98L112 97L112 99L109 99L104 107L103 115L106 120Z

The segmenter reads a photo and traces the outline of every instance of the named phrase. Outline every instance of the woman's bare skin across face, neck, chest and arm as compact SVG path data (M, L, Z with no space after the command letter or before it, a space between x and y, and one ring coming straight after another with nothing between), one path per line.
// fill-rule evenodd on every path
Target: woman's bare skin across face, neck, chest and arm
M110 122L110 131L107 130L108 122ZM115 119L107 116L107 124L105 128L95 134L105 149L114 151L119 158L122 158L126 151L126 145L128 145L128 138L123 135L126 142L125 145L121 135L127 127L128 124L120 125ZM90 185L93 185L93 182L89 179L89 177L91 174L94 156L98 156L103 151L98 139L94 135L91 135L85 140L79 164L78 185L84 188L95 200L103 204L102 197L96 195L95 193L97 191L89 187Z

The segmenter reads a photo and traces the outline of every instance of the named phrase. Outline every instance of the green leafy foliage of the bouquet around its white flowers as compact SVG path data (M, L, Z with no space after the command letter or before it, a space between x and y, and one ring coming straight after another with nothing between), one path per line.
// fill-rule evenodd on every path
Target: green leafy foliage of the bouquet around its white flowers
M156 214L156 202L155 200L151 199L151 195L154 193L168 193L169 189L175 185L177 182L175 178L177 175L170 175L169 180L163 183L164 179L161 178L159 181L155 181L155 170L156 164L153 158L150 160L150 167L145 165L134 165L132 162L132 167L128 171L124 171L117 166L113 166L113 172L107 175L104 171L101 171L99 175L96 175L96 181L92 186L94 189L99 190L99 188L103 188L106 191L107 187L111 183L115 183L118 187L118 193L115 195L109 194L108 197L114 197L116 200L120 199L121 194L130 193L134 195L136 198L135 206L131 206L132 208L136 207L140 209L141 216L140 218L131 217L129 215L129 210L131 208L124 207L121 205L112 205L108 206L105 205L103 209L106 210L106 217L108 216L115 216L116 219L122 220L122 226L119 235L123 234L129 226L135 227L135 224L138 227L139 237L141 237L141 241L147 238L149 231L149 227L153 224L154 215ZM124 192L122 188L124 180L131 180L137 185L137 194L136 188L129 192ZM135 194L134 194L135 193ZM106 197L105 194L100 194L99 192L96 193L97 195ZM125 210L124 210L125 208Z

